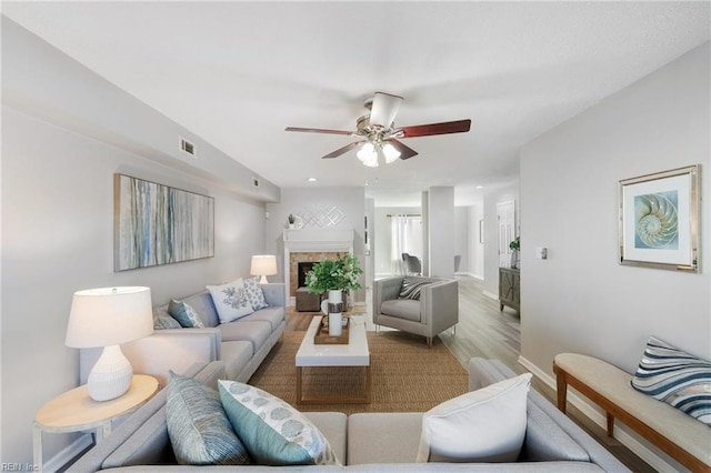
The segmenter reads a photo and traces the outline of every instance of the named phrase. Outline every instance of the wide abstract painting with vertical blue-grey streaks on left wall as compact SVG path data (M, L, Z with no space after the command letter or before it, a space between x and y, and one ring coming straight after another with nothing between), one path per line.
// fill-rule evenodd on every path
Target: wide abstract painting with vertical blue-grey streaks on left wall
M113 270L214 256L214 199L113 175Z

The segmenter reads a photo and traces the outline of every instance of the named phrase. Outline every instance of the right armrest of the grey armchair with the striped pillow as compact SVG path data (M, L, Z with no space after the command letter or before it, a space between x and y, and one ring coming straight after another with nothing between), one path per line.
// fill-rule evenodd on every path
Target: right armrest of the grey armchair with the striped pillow
M420 304L424 323L432 328L430 333L438 334L455 325L459 322L459 283L447 280L424 285Z

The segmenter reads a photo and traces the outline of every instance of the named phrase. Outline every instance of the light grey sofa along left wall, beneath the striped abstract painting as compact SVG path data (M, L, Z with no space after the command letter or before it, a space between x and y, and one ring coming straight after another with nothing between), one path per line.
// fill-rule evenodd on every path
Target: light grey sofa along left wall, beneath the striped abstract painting
M202 291L180 300L200 316L204 329L163 329L152 335L121 345L133 372L150 374L166 385L168 371L186 372L196 362L220 360L226 379L247 382L284 332L284 284L261 284L269 306L236 321L221 324L210 292ZM168 311L168 304L154 309ZM99 358L99 349L82 349L81 382L86 383Z

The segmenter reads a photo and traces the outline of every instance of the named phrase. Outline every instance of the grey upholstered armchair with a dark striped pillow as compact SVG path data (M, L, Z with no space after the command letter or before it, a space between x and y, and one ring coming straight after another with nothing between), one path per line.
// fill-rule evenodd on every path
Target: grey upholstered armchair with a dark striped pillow
M420 300L400 298L408 279L421 286ZM459 288L455 280L395 276L377 280L373 289L373 323L432 338L459 322Z

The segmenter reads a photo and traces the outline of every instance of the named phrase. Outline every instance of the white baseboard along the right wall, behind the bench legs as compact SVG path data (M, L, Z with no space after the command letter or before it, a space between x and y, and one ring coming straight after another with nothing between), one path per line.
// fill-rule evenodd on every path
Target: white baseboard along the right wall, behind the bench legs
M517 361L519 362L520 365L529 370L531 373L533 373L533 375L535 375L535 378L538 378L539 380L548 384L553 390L553 392L555 392L555 379L553 376L551 376L550 374L548 374L547 372L538 368L535 364L531 363L531 361L527 360L522 355L519 355L519 359ZM568 399L568 402L570 402L572 405L578 407L580 412L582 412L592 422L598 424L601 429L603 430L608 429L607 416L601 412L599 412L594 407L594 404L591 404L584 397L577 394L577 392L572 388L568 389L567 399ZM621 427L623 427L623 425L615 424L614 439L620 441L622 445L630 449L632 453L634 453L640 459L644 460L647 463L649 463L650 466L652 466L657 471L660 471L660 472L679 471L678 470L679 466L674 466L671 463L664 461L661 456L652 452L645 445L640 443L639 440L634 439L632 435L630 435L628 432L625 432Z

